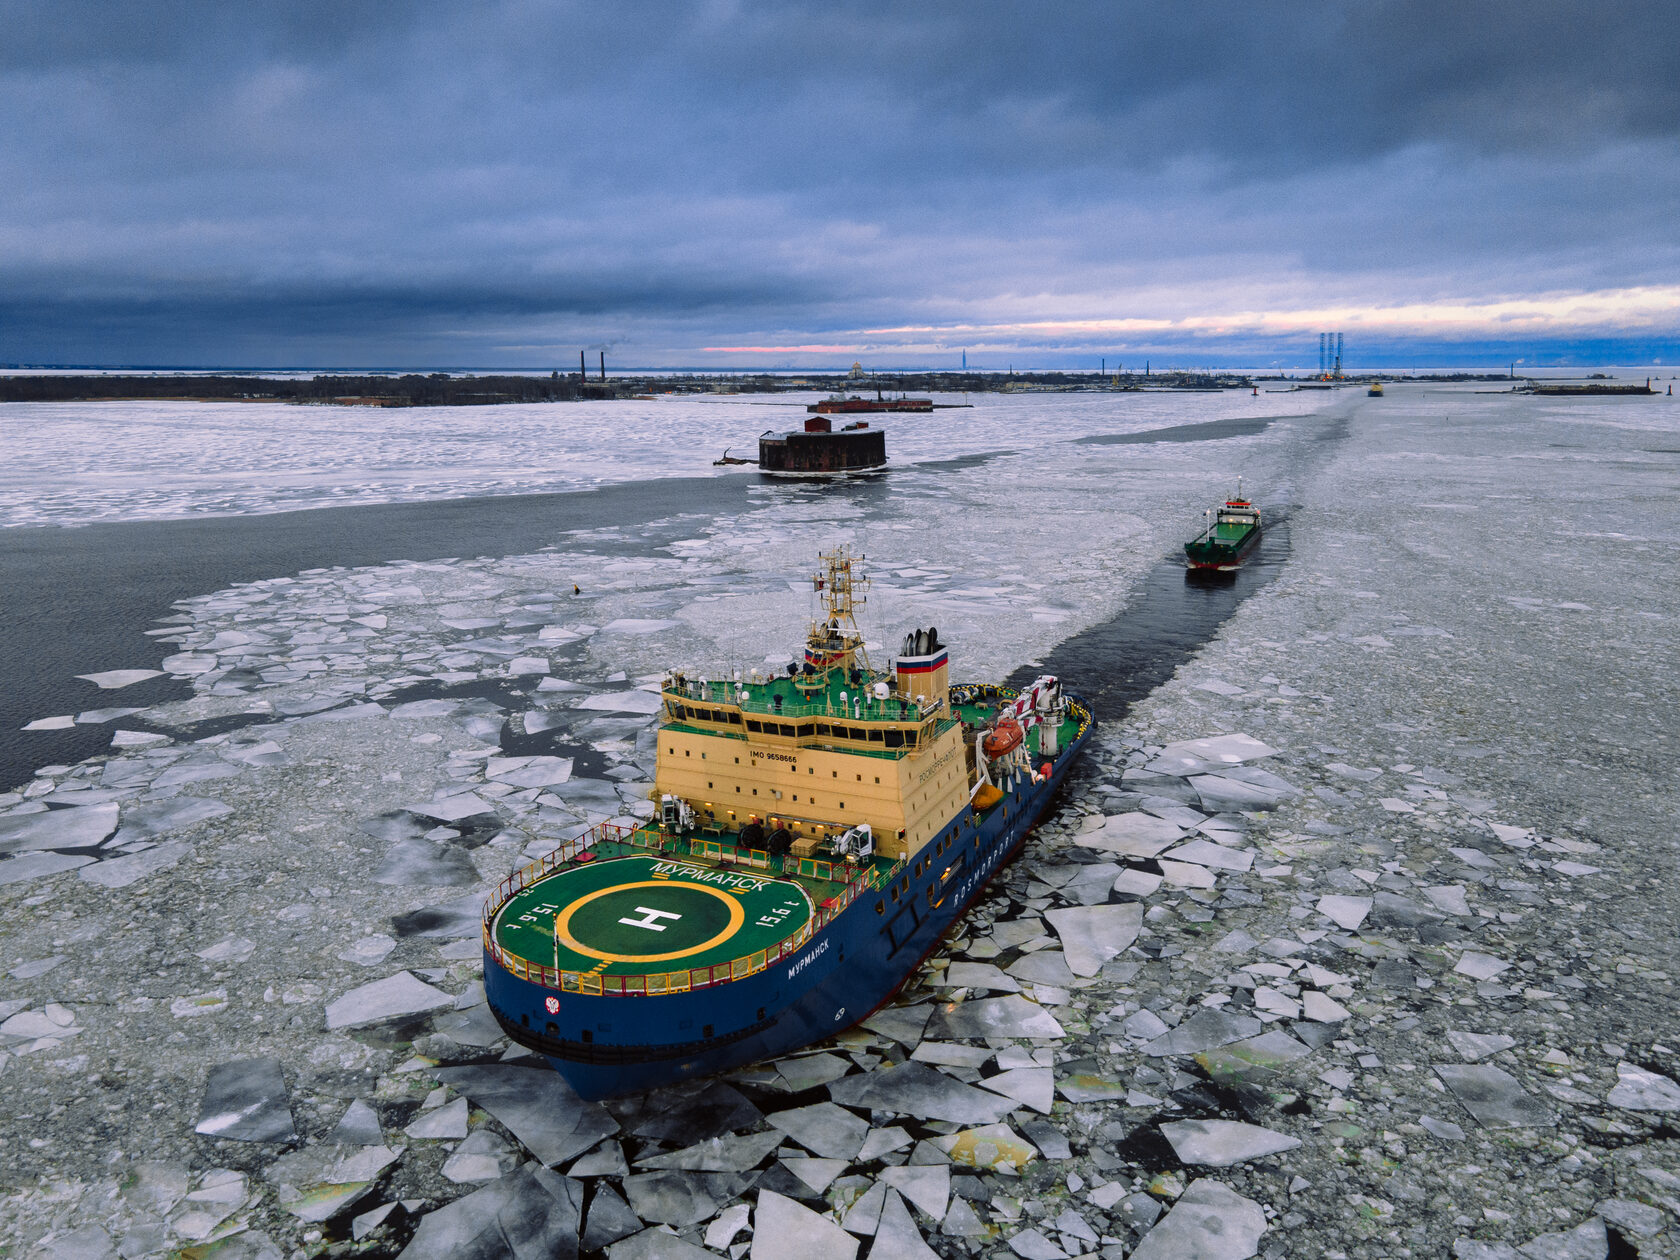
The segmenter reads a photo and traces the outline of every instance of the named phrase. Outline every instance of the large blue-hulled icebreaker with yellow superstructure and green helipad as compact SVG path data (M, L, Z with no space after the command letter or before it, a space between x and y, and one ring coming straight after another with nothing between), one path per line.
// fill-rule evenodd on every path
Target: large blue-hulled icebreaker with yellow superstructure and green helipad
M887 1003L1021 847L1084 748L1055 677L951 684L936 628L875 669L845 548L785 670L667 674L654 816L501 882L496 1020L586 1099L774 1058Z

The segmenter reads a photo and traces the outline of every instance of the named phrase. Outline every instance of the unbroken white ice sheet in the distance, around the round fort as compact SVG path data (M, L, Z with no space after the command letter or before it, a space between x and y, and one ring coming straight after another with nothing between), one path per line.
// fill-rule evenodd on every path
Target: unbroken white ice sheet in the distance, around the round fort
M0 524L86 524L351 502L568 491L732 472L729 447L795 428L823 395L375 408L8 403ZM1090 433L1310 410L1314 395L973 395L971 410L875 415L894 465L1053 449ZM1028 440L1030 438L1030 440Z

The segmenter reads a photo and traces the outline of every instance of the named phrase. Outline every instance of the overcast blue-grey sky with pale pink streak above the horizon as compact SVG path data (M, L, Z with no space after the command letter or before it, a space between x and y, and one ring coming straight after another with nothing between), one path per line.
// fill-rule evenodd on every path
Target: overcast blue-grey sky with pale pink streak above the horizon
M0 0L0 363L1650 363L1680 5Z

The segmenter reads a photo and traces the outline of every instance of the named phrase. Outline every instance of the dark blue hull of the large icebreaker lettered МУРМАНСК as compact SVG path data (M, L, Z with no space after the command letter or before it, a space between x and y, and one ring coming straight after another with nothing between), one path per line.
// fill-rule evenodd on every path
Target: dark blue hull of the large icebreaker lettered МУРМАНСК
M692 993L585 995L521 979L486 951L491 1011L585 1099L638 1094L833 1037L884 1006L1015 857L1089 738L1087 722L1048 778L1033 785L1023 776L978 825L969 810L954 818L941 833L954 837L948 860L907 867L899 880L909 889L897 900L887 892L858 897L773 968Z

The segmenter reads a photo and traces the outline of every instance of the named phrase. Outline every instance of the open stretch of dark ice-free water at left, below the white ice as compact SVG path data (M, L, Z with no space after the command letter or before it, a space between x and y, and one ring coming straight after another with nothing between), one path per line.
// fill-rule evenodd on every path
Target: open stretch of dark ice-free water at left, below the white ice
M309 568L524 554L563 541L571 529L600 526L638 531L625 546L645 551L659 546L664 531L675 539L692 528L660 524L670 517L749 507L748 491L756 484L756 475L662 479L571 494L0 529L0 790L27 781L39 766L74 764L111 743L111 724L18 729L37 717L192 696L192 684L168 677L119 690L76 677L156 669L176 648L144 632L176 600ZM610 548L591 541L591 549Z

